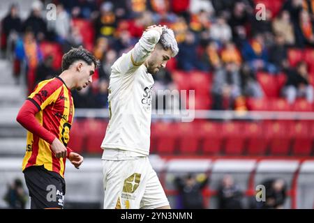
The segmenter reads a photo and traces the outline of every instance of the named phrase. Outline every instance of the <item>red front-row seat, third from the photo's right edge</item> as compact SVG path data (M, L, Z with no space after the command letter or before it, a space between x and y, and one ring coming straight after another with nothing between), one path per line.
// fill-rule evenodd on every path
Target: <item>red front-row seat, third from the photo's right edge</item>
M267 137L264 134L264 123L252 122L244 124L247 155L266 155Z

